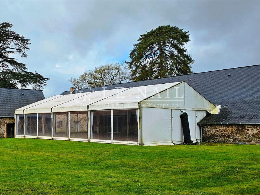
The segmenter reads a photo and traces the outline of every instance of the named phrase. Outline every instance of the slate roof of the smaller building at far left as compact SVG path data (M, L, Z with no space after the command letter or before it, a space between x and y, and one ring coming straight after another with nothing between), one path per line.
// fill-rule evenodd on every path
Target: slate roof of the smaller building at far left
M41 90L0 88L0 117L14 117L14 110L45 99Z

